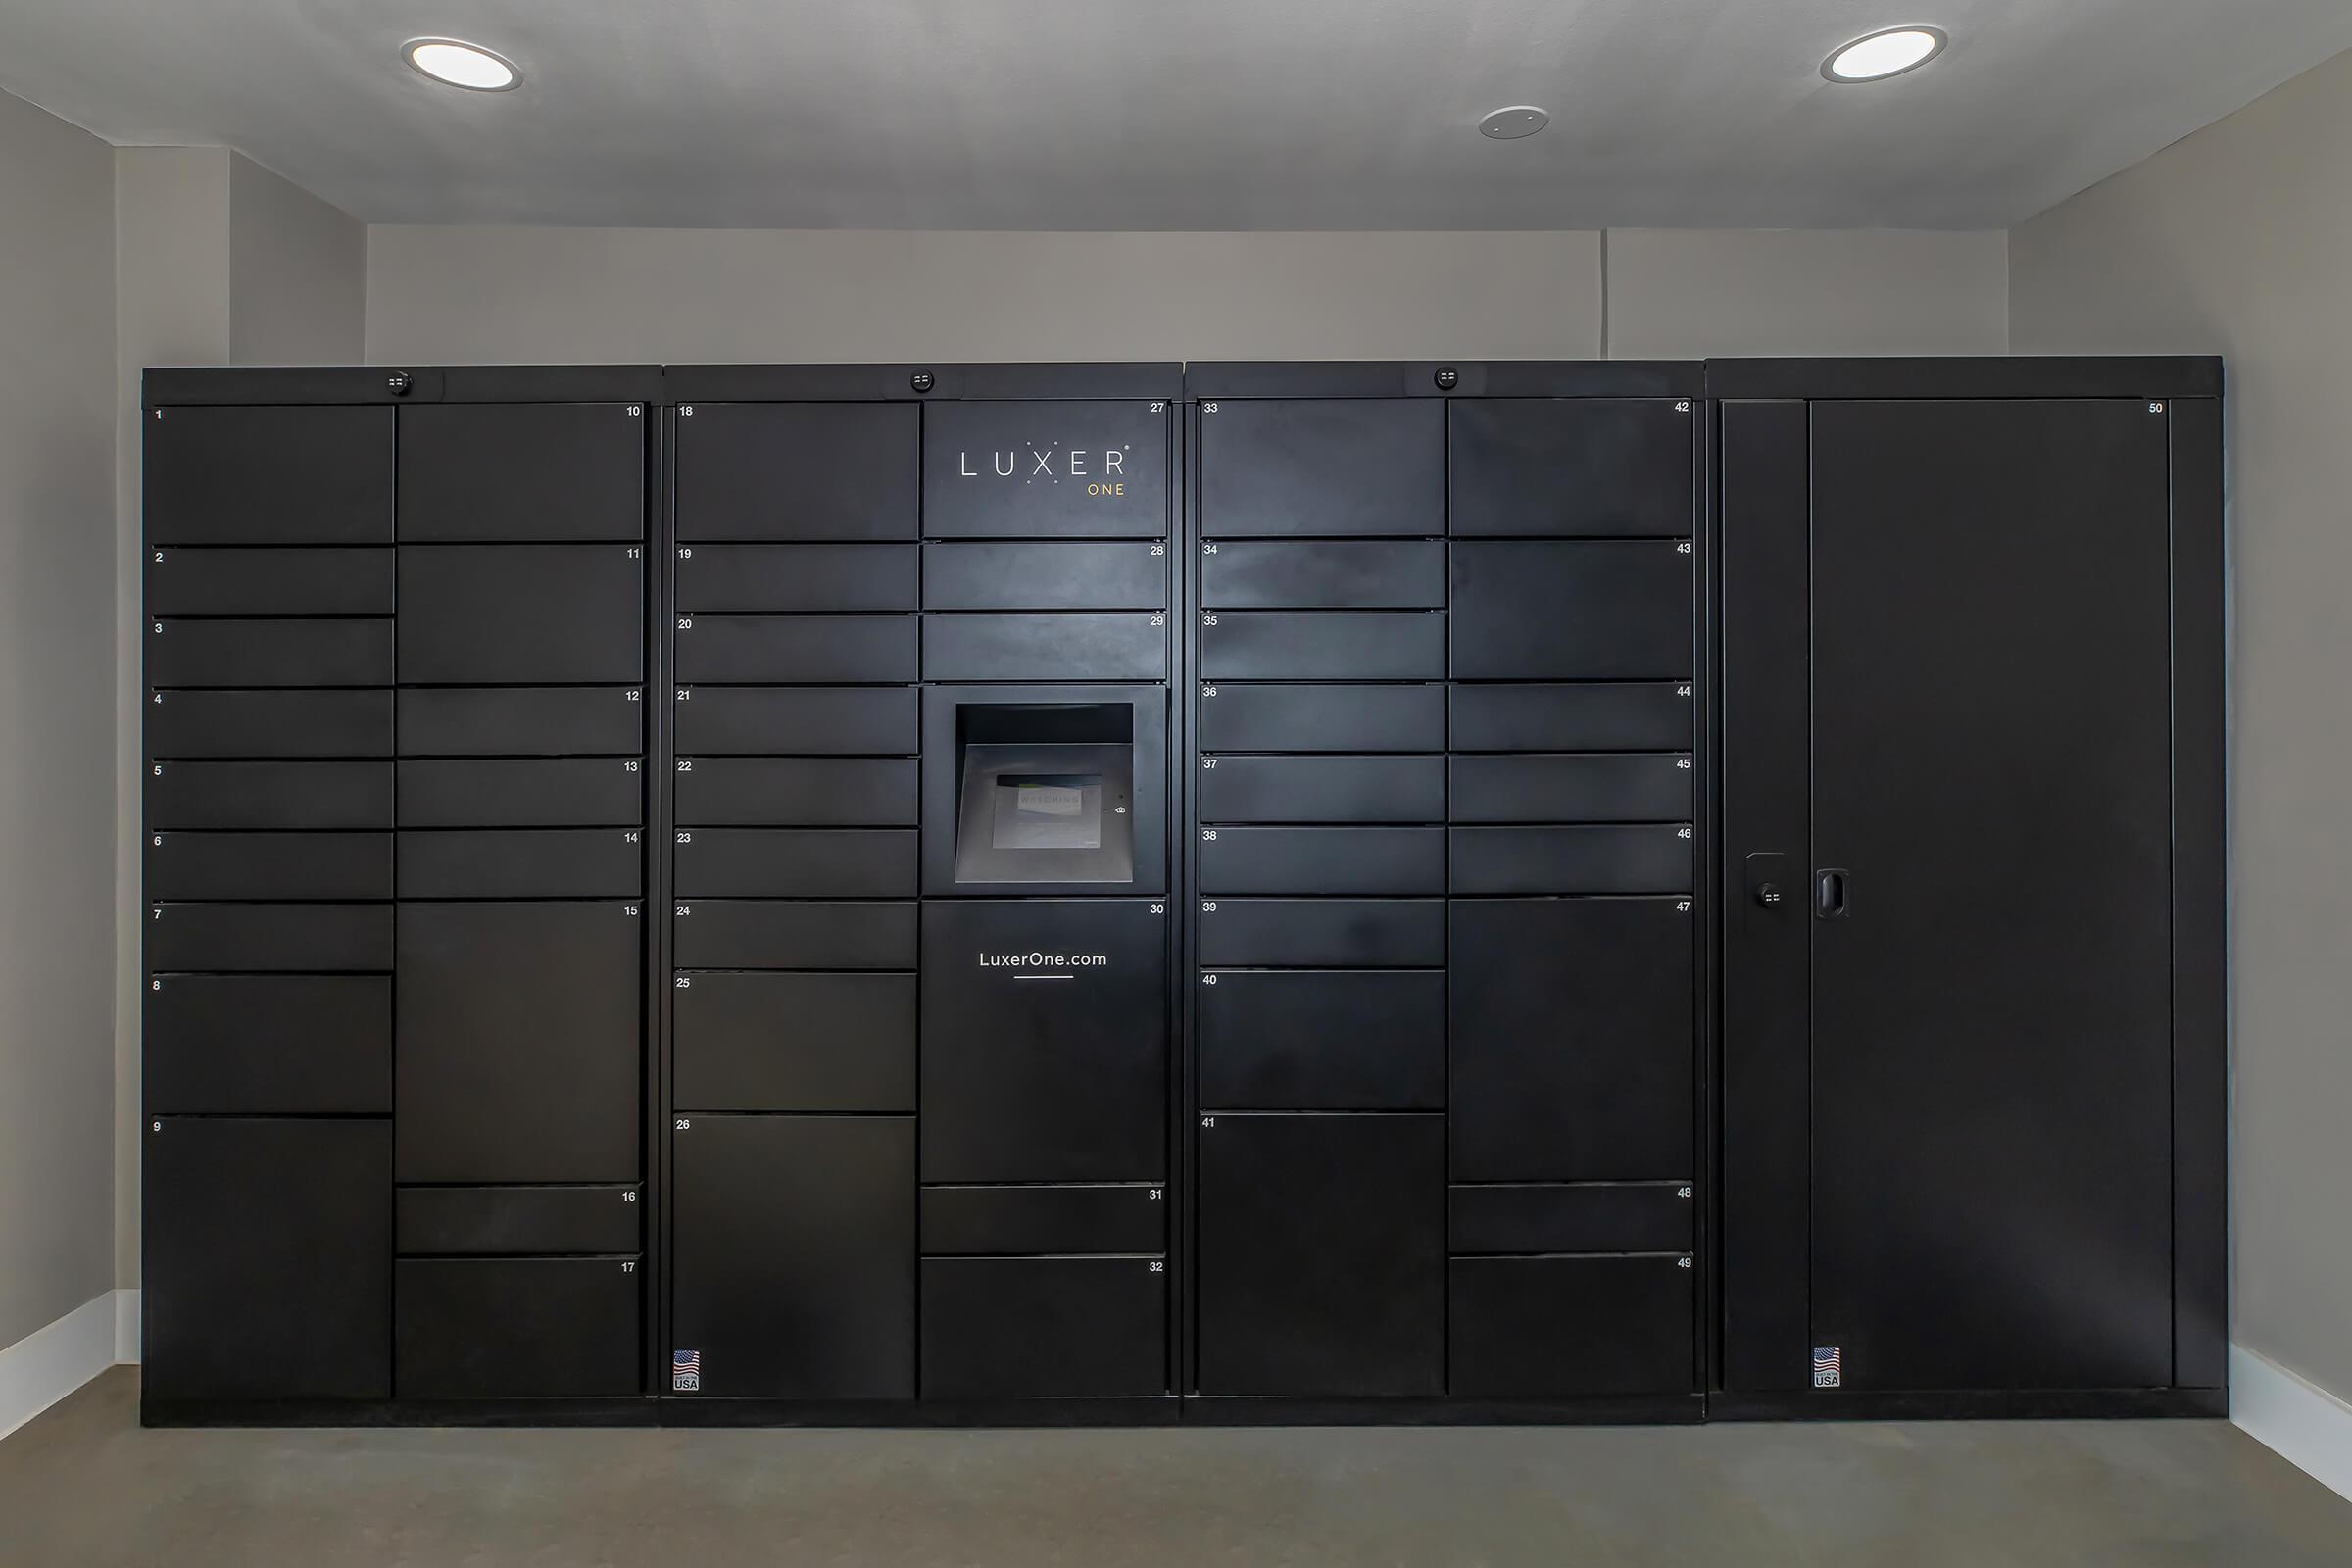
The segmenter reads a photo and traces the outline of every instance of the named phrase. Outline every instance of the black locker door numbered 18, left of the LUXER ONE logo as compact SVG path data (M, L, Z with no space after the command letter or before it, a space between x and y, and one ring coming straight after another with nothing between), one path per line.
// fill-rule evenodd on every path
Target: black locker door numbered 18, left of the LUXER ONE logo
M701 402L677 414L677 538L915 538L913 402Z

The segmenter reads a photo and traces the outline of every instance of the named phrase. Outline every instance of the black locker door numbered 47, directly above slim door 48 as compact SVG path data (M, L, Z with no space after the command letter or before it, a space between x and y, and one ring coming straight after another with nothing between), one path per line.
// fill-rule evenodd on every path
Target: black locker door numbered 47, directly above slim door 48
M1693 936L1677 903L1454 900L1454 1180L1691 1173Z

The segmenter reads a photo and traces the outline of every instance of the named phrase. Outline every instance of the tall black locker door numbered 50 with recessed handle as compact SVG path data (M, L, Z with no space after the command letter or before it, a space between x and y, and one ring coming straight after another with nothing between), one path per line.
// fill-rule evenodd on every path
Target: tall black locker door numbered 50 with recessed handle
M2171 1382L2166 421L1818 402L1811 1331Z

